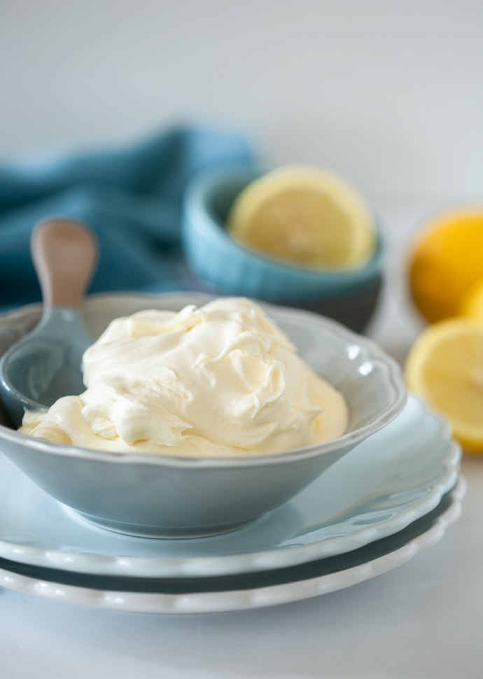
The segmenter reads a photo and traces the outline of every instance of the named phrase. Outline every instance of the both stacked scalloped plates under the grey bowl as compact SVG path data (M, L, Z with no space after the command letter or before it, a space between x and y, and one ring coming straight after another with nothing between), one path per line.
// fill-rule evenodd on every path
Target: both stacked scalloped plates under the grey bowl
M400 566L458 518L461 451L409 396L293 500L237 531L167 540L87 524L0 457L0 585L119 610L238 610L318 596Z

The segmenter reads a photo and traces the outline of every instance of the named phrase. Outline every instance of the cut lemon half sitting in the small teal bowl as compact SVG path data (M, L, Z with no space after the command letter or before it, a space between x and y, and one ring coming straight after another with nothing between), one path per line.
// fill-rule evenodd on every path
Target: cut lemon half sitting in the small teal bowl
M310 267L355 267L376 246L374 216L342 177L316 167L285 166L241 191L228 232L272 258Z

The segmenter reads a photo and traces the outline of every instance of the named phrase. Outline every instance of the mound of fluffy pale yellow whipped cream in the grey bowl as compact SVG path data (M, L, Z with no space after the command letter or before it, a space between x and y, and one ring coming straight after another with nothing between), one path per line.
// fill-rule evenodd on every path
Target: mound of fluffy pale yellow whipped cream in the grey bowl
M84 354L86 390L20 431L106 451L267 454L344 433L342 395L245 298L147 310L109 325Z

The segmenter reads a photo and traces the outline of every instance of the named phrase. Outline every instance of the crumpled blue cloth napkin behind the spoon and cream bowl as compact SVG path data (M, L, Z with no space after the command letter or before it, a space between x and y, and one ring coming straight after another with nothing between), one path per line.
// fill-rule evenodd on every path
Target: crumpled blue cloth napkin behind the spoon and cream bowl
M91 293L186 289L180 239L186 184L203 169L245 163L254 158L243 135L176 127L128 148L0 166L0 307L41 299L30 234L48 216L78 218L97 234Z

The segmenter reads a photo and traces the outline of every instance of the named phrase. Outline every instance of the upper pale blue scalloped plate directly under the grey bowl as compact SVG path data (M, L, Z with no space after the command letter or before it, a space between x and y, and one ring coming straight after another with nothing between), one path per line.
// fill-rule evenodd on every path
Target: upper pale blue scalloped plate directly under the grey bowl
M283 507L225 535L161 540L87 524L0 457L0 557L131 577L287 568L402 530L433 510L454 486L460 460L461 450L444 421L409 396L400 416Z

